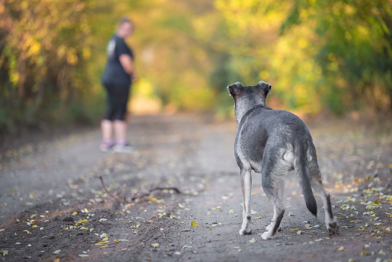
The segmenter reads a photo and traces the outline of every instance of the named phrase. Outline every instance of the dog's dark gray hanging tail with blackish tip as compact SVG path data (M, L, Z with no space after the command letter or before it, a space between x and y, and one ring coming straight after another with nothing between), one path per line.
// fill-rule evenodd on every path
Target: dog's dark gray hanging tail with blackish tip
M298 183L301 187L305 199L306 207L309 211L317 216L317 204L310 185L308 159L306 147L300 142L294 144L294 169L297 175Z

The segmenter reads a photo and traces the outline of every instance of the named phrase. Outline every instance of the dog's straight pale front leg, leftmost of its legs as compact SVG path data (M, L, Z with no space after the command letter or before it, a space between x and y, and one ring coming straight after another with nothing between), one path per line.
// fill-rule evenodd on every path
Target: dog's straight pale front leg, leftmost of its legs
M250 217L250 192L252 187L252 176L250 169L241 169L241 188L242 188L242 226L240 235L252 234L252 221Z

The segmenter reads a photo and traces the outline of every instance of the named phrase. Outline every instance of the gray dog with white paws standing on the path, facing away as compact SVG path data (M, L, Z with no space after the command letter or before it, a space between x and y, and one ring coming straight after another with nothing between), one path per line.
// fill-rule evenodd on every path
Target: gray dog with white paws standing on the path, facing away
M285 179L288 171L293 169L308 210L317 215L313 187L321 196L325 208L325 225L329 233L337 234L339 225L332 213L329 193L321 183L312 136L303 121L293 113L266 106L271 87L264 81L255 86L243 86L240 82L227 86L227 91L234 99L237 120L234 154L240 167L243 195L240 235L252 234L251 171L261 173L263 190L273 204L272 222L261 236L269 239L278 231L285 212Z

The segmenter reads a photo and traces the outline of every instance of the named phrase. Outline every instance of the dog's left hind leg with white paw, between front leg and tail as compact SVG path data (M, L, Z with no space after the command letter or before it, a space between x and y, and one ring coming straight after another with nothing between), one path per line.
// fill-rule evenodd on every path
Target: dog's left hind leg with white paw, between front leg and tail
M285 213L283 206L285 174L276 170L273 162L263 161L261 176L264 193L273 204L272 222L267 227L267 231L261 236L262 239L269 239L279 230L280 222Z

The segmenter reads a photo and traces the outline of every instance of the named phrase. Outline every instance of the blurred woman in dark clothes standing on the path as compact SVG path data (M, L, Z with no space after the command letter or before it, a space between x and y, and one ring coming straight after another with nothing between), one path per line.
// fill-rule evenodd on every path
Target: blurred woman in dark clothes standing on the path
M132 34L133 29L132 22L122 18L106 48L107 62L101 78L107 92L106 111L101 121L102 142L99 148L102 152L107 152L111 148L117 152L133 150L126 139L125 115L129 89L134 78L134 57L124 40Z

